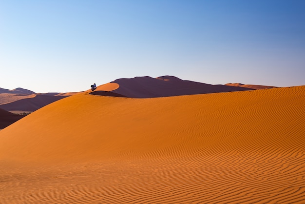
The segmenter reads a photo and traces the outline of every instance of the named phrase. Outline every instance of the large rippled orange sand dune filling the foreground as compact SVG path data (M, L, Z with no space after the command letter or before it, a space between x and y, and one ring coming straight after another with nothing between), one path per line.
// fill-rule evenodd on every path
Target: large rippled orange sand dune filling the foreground
M82 93L0 131L0 201L303 204L305 86Z

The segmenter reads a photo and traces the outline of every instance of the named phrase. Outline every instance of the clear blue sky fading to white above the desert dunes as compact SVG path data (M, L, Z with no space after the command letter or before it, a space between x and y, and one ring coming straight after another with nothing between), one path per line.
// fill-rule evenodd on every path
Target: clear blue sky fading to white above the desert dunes
M305 85L305 0L0 0L0 87Z

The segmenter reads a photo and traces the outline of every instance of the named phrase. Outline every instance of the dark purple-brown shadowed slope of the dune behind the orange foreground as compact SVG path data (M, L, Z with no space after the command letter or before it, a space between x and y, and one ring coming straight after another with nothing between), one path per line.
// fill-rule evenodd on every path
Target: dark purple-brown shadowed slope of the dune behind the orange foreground
M251 90L251 88L245 87L191 82L173 76L117 79L114 83L119 84L119 87L111 90L112 92L131 98L155 98Z

